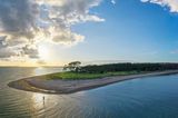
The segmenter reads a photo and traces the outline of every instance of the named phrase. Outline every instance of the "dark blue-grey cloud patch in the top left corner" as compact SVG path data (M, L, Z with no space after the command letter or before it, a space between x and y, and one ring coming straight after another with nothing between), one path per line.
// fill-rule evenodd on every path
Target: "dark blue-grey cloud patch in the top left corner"
M2 32L16 37L33 38L37 6L30 0L0 0L0 22Z

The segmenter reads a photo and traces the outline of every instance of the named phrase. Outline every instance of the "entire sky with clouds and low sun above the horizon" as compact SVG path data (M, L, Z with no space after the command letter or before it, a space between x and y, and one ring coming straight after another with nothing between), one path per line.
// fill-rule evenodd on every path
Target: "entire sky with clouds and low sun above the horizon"
M0 0L0 66L178 62L178 0Z

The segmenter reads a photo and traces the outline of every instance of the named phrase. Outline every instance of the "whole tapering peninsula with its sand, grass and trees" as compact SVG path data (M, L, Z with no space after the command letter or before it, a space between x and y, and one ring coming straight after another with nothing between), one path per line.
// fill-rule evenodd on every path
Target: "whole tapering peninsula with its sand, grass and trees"
M178 73L178 63L79 65L70 62L63 68L67 71L23 78L8 86L33 92L72 94L135 78Z

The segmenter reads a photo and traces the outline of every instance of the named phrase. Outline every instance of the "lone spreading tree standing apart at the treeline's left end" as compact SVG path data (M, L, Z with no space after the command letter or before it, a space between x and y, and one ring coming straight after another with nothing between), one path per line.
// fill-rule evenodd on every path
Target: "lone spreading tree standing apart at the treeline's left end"
M79 72L80 71L80 65L81 65L80 61L72 61L72 62L66 65L63 67L63 70L68 70L69 69L70 71Z

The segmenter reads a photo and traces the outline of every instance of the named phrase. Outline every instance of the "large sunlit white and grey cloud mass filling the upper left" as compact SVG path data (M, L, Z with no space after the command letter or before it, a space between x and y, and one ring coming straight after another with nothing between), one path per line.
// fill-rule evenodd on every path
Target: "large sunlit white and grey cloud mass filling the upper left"
M112 2L115 2L112 0ZM75 45L73 24L105 19L90 13L101 0L0 0L0 58L39 58L39 41Z

